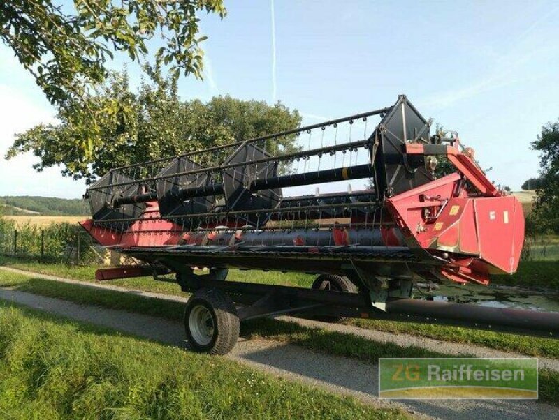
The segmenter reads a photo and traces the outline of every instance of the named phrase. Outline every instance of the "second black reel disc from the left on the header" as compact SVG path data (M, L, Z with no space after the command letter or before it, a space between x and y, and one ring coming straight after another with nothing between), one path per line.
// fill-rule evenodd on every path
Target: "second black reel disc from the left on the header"
M207 188L211 185L208 174L203 172L184 174L184 172L197 171L201 168L198 163L189 158L179 156L157 174L157 201L162 218L177 220L180 223L180 218L177 216L208 213L210 211L215 201L213 195L205 197L183 197L181 195L182 190ZM177 175L168 177L171 174Z

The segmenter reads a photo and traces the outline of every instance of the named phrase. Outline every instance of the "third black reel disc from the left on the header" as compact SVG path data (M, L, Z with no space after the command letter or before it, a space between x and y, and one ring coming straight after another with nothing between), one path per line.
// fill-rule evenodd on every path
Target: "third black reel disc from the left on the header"
M269 190L258 190L251 192L249 186L256 179L269 179L277 177L278 163L268 161L254 163L256 160L269 158L270 155L256 147L254 144L242 144L226 160L224 166L228 167L223 173L223 184L225 192L226 207L229 211L275 209L282 200L281 188ZM246 163L245 165L241 165ZM244 220L249 225L263 225L270 217L269 213L243 215Z

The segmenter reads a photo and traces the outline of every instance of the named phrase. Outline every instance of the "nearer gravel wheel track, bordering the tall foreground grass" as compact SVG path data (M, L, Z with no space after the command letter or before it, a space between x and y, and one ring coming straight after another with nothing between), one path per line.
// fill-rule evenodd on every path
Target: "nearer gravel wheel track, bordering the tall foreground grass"
M60 299L40 297L25 292L0 289L0 299L62 315L73 320L110 327L124 333L150 338L179 347L184 343L182 325L157 317L81 306ZM559 409L530 400L416 400L384 403L377 395L377 367L344 357L317 354L300 347L268 340L240 340L229 359L279 375L324 387L329 391L351 395L365 403L402 407L442 419L556 419Z

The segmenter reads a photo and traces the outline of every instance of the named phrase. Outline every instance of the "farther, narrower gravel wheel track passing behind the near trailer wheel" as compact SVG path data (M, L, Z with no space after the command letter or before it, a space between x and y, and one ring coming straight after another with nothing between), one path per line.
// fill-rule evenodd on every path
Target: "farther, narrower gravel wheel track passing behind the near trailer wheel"
M77 284L77 285L88 286L88 287L97 287L104 290L115 290L117 292L134 293L144 297L166 299L170 301L179 301L184 303L186 303L188 300L186 297L172 296L168 294L159 294L153 292L143 292L142 290L131 290L131 289L126 289L125 287L109 285L107 283L87 283L85 281L70 280L68 278L49 276L47 274L35 273L33 271L24 271L20 269L14 269L11 267L0 267L0 270L11 271L13 273L26 274L29 276L35 276L37 278L45 278L47 280L60 281L63 283ZM371 329L359 328L359 327L354 327L345 324L326 324L324 322L303 320L301 318L288 317L288 316L277 317L277 319L289 321L289 322L295 322L296 324L304 325L307 327L316 327L316 328L326 329L328 331L349 333L355 336L366 338L368 340L380 341L382 343L394 343L401 346L413 345L416 347L423 347L428 350L433 350L434 352L455 354L456 356L462 354L472 354L475 357L525 357L524 354L518 354L514 352L504 352L502 350L495 350L480 345L467 344L467 343L451 343L449 341L435 340L433 338L413 336L412 334L375 331ZM559 372L559 360L540 357L539 367L548 368Z

